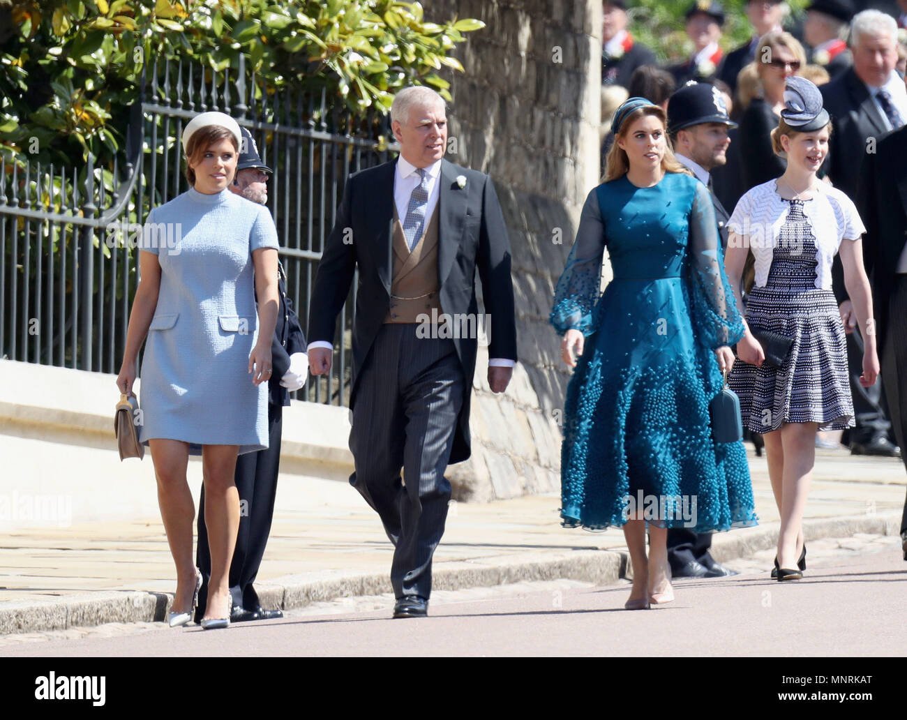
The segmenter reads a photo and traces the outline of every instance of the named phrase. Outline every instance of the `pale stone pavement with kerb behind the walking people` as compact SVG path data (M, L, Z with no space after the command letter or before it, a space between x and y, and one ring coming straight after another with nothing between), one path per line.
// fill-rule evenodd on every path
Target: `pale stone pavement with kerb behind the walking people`
M765 456L749 452L760 526L718 533L713 554L722 562L775 543ZM899 460L817 451L807 538L896 535L904 484ZM435 587L622 577L622 531L565 530L559 505L551 495L454 503L435 555ZM381 595L391 556L374 511L346 482L284 474L256 587L266 606L283 608ZM160 619L174 585L160 518L14 530L0 537L0 634Z

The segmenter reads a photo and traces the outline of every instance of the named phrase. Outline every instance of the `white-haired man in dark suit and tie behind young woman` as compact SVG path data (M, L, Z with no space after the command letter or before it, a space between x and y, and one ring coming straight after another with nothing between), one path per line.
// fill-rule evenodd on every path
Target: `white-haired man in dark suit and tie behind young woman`
M894 70L897 63L897 24L891 15L864 10L851 24L853 67L831 83L819 87L824 108L832 116L829 138L828 176L836 188L855 200L863 181L860 164L876 151L875 142L885 132L900 128L907 118L907 90ZM834 291L841 303L847 330L847 362L856 427L850 434L851 452L896 456L898 449L889 440L892 425L882 404L884 378L872 387L859 383L863 372L863 340L851 330L856 319L844 287L840 258L833 266Z

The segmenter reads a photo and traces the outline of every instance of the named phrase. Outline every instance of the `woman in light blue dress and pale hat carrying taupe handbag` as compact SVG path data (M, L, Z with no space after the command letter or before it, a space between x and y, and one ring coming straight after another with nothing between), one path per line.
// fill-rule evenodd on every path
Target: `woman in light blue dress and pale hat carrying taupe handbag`
M161 518L177 569L171 627L190 622L201 575L186 468L200 454L211 552L201 625L229 625L229 562L239 528L237 455L268 447L267 381L278 309L277 229L268 210L228 190L239 124L205 112L183 132L190 189L154 208L141 239L117 386L132 393L141 364L140 439L151 447ZM256 309L256 294L258 309ZM193 595L194 591L194 595Z

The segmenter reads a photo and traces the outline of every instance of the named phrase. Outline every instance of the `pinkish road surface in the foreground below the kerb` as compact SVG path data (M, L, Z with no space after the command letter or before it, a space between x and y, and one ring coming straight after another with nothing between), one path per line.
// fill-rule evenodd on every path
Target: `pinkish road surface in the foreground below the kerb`
M860 552L811 546L800 582L777 583L766 558L738 561L729 579L678 580L677 600L623 610L629 584L574 581L438 592L431 617L389 618L392 599L358 598L227 630L107 628L7 640L0 654L31 657L172 656L903 656L907 563L896 538ZM768 560L770 562L770 560ZM375 609L378 608L378 609ZM352 610L352 611L351 611ZM73 633L73 631L63 631ZM846 668L842 668L844 672Z

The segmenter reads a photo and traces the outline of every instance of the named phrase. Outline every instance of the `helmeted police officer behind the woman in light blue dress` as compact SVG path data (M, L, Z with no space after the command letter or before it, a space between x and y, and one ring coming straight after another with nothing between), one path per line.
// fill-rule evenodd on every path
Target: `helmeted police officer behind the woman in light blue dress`
M236 165L236 178L229 186L243 198L264 205L268 202L268 173L272 170L261 161L258 147L246 128L242 132L242 147ZM271 341L274 372L268 381L268 448L239 455L236 462L236 488L239 491L239 532L236 549L229 566L229 591L233 596L230 622L282 618L279 609L261 607L253 587L261 559L268 544L274 500L278 491L280 465L280 436L283 427L283 408L289 404L289 394L305 384L308 373L306 338L299 326L293 302L287 297L283 266L278 263L278 324ZM208 579L211 558L208 530L205 527L205 489L201 488L199 502L199 546L196 564L201 570L202 586L195 621L205 614L208 598Z

